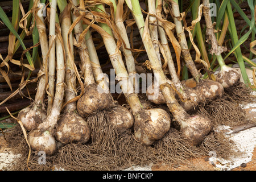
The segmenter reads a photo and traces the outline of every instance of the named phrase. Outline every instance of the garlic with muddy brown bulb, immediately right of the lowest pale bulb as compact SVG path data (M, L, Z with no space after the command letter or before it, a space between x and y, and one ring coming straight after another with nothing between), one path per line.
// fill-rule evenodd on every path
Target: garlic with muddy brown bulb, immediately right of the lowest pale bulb
M69 142L86 143L90 139L90 126L77 113L76 102L73 101L76 97L76 73L75 68L73 68L73 35L69 34L69 28L71 28L71 4L67 4L66 1L58 0L57 5L61 13L61 34L66 53L65 82L67 88L65 90L65 102L69 103L65 105L64 114L61 115L61 118L57 121L56 139L63 144Z

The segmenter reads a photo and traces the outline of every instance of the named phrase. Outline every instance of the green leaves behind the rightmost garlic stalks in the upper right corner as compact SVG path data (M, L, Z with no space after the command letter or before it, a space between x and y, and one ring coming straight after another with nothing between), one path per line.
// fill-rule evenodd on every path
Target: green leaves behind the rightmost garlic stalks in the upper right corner
M189 5L186 12L191 11L192 18L196 19L197 14L198 14L199 1L191 0L190 2L192 3L192 5ZM254 14L255 14L254 7L255 7L256 2L250 1L250 0L247 1L248 5L250 7L251 19L249 19L248 16L241 9L241 7L239 5L241 2L237 3L235 0L224 0L224 1L214 0L214 1L210 1L210 2L215 3L217 6L217 9L216 9L217 16L212 17L213 21L216 22L216 25L215 25L216 30L222 30L222 28L223 28L222 23L224 22L225 15L228 16L229 25L228 25L228 31L226 32L225 36L226 36L226 40L230 40L230 44L226 44L229 46L228 52L223 53L224 55L222 55L222 56L224 56L224 60L229 59L230 55L236 56L237 61L235 63L238 63L240 65L243 80L248 85L249 78L245 71L245 61L247 63L249 63L250 65L254 66L254 63L250 60L253 59L253 57L255 55L253 55L253 53L250 52L250 57L246 57L246 59L245 59L245 56L243 56L243 53L241 51L241 46L243 45L243 43L248 41L248 39L250 37L251 37L250 42L253 42L253 40L255 39L256 27L255 27L255 18L254 18L255 17L254 16ZM240 32L240 34L237 32L237 24L235 23L235 20L234 20L234 13L236 13L236 12L238 14L240 14L241 18L243 20L245 20L245 22L247 23L247 26L243 28L243 30ZM242 35L243 31L246 32L244 35ZM216 33L217 39L220 38L220 34L221 34L221 31L218 31ZM195 29L193 30L193 35L196 35L197 46L200 49L202 58L204 59L204 57L203 57L204 51L202 48L205 47L204 43L206 42L205 31L203 31L201 29L201 27L196 26ZM246 49L247 49L247 51L250 50L249 47L246 47ZM211 68L213 70L216 69L216 64L215 64L216 56L212 56L208 53L208 59L210 61L210 65L212 65ZM207 76L207 74L205 74L205 76Z

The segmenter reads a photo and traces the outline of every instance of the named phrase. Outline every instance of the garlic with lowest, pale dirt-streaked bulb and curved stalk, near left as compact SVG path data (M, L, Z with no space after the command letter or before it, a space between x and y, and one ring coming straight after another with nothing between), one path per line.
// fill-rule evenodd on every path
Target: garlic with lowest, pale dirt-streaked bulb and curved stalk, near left
M52 11L56 12L56 0L52 0L51 8L51 26L55 27L55 18L56 13L52 13ZM53 16L53 18L52 18ZM55 28L53 28L55 31ZM51 30L52 31L52 30ZM53 34L53 32L51 32ZM55 35L55 32L54 32ZM50 42L52 42L53 38L50 38ZM63 59L63 50L60 44L59 38L56 40L56 46L60 49L60 52L57 56L57 82L56 82L56 94L54 98L53 105L51 110L47 112L47 118L40 123L37 127L37 130L33 130L30 134L28 134L28 142L31 145L31 148L36 151L44 151L47 155L52 155L57 150L57 144L55 142L55 138L52 136L52 129L54 128L57 119L60 115L61 104L64 96L64 59ZM52 51L54 49L54 51ZM59 50L58 50L59 51ZM51 53L54 55L51 56L53 58L53 64L55 64L55 43L52 44ZM51 54L50 53L50 54ZM50 64L49 67L52 67ZM55 66L53 65L53 73L55 72ZM54 90L54 81L53 81L53 90Z

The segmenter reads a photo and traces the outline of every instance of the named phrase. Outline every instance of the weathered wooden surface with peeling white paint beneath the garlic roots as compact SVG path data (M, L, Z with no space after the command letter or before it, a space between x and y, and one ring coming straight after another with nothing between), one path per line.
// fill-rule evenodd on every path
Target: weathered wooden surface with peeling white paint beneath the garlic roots
M251 119L256 119L256 107L246 109L247 116ZM237 167L230 168L228 170L230 171L256 171L256 126L255 125L243 125L241 127L233 127L231 129L233 132L236 132L236 134L242 134L244 140L241 140L240 142L248 143L253 145L253 150L250 152L250 160L243 160L237 162ZM250 133L253 132L255 135ZM240 137L240 136L238 136ZM248 147L249 146L243 146ZM251 147L251 146L250 146ZM0 136L0 170L8 170L10 165L13 164L13 159L16 156L10 152L10 148L8 148L8 143L6 142L4 135ZM189 159L189 162L191 165L184 165L184 166L177 166L177 167L167 167L163 165L152 165L150 167L137 167L137 168L130 168L128 170L152 170L152 171L189 171L189 170L205 170L205 171L218 171L218 170L225 170L224 167L220 164L220 162L216 162L216 166L212 165L209 160L209 156L204 156L201 158L196 159Z

